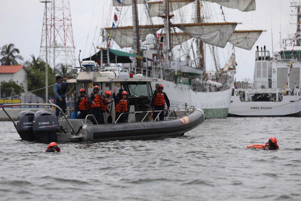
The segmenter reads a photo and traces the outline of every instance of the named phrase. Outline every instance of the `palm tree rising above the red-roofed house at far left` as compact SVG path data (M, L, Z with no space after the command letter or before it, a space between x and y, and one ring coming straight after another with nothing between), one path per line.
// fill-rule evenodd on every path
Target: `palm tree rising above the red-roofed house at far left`
M4 57L0 59L0 64L4 66L17 65L18 62L16 61L16 59L23 60L23 57L20 55L14 55L16 53L20 54L20 51L19 49L14 48L13 43L3 46L1 56Z

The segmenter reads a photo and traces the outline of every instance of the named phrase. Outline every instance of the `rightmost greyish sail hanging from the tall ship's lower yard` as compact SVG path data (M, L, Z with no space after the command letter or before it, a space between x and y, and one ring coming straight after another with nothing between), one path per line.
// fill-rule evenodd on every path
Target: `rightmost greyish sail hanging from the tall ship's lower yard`
M262 30L234 31L229 42L239 48L251 50Z

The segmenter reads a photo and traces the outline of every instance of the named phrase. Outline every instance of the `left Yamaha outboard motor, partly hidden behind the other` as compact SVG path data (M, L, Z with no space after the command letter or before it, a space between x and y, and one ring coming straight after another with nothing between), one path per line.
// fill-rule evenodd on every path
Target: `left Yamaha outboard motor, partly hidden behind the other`
M21 111L17 119L17 132L22 140L36 140L33 134L33 117L36 113L28 110Z

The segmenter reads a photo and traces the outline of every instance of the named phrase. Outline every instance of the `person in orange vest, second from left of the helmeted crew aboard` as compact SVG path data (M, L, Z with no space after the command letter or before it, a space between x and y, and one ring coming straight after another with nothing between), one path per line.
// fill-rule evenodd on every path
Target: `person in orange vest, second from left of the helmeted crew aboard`
M101 116L101 104L100 100L104 99L103 96L98 95L99 92L99 86L94 86L93 92L88 97L88 102L90 105L90 115L94 115L96 121L93 117L90 117L90 120L93 124L100 124L102 122L102 116Z

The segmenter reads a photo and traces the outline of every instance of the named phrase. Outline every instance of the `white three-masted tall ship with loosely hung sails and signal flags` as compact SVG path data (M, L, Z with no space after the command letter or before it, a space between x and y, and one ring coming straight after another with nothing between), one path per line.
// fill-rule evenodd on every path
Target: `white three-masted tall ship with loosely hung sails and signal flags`
M216 3L214 10L211 5ZM120 76L160 78L172 105L182 107L185 100L205 111L206 119L226 118L235 47L252 49L262 30L236 30L239 23L225 20L225 7L248 12L256 4L255 0L112 0L113 15L101 33L100 51L87 60L99 60L104 70L119 71ZM210 15L214 12L219 19ZM217 52L224 50L229 60L221 66Z

